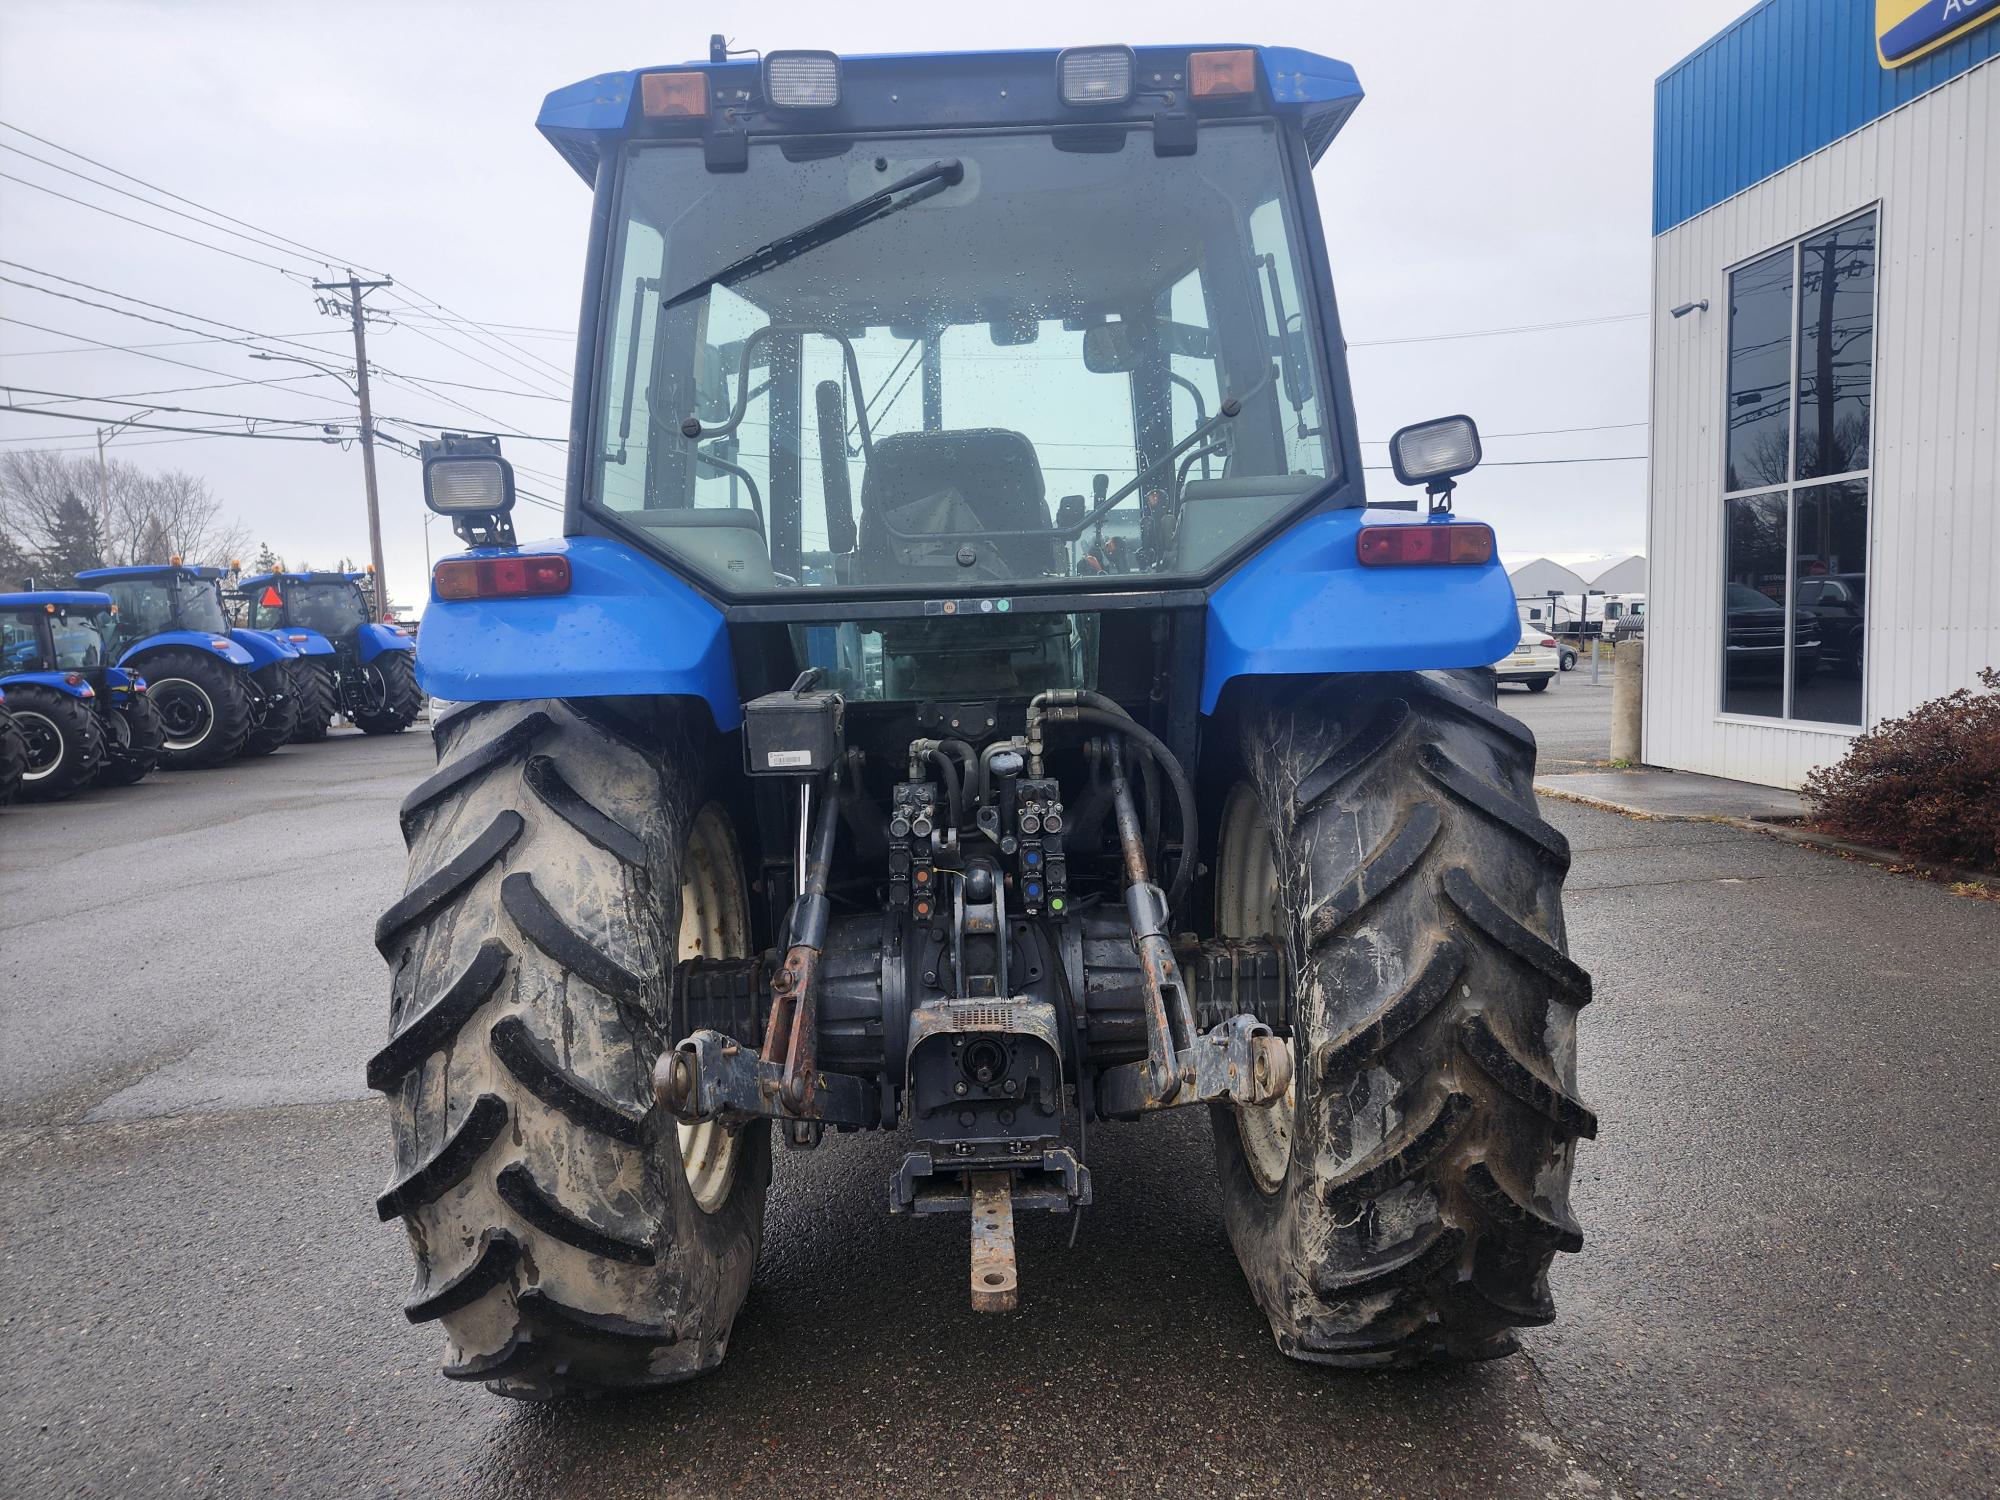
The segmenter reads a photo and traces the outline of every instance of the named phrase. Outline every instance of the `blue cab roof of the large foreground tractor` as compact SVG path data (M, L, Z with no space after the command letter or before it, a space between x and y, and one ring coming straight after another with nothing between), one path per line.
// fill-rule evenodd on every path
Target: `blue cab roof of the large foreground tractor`
M596 182L608 144L630 134L702 134L710 122L678 128L638 112L640 76L648 72L702 72L708 76L712 118L728 110L754 134L846 134L860 130L980 128L1022 124L1148 124L1162 112L1162 88L1152 78L1186 76L1190 52L1250 50L1258 54L1260 80L1254 100L1200 106L1198 114L1280 114L1298 120L1312 160L1334 140L1362 100L1354 68L1316 52L1288 46L1200 44L1142 46L1136 58L1138 90L1126 104L1064 104L1056 88L1054 48L1030 52L888 52L840 58L840 104L832 110L760 108L762 62L684 62L630 72L606 72L554 90L536 116L536 128L576 168ZM1178 92L1178 90L1176 90ZM730 130L738 128L730 124Z

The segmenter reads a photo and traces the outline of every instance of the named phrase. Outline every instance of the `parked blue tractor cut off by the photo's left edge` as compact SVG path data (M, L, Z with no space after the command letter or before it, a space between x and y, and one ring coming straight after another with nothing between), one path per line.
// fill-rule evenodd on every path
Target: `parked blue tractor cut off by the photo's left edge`
M112 666L114 614L110 594L90 590L0 594L0 684L16 690L28 744L24 802L130 786L160 762L166 726L146 678Z

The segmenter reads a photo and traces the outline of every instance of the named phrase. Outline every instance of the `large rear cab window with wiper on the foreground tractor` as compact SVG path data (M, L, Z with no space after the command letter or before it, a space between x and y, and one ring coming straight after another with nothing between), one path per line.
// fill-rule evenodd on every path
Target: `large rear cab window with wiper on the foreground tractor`
M592 502L730 592L1186 576L1334 476L1276 128L750 156L630 148L592 418Z

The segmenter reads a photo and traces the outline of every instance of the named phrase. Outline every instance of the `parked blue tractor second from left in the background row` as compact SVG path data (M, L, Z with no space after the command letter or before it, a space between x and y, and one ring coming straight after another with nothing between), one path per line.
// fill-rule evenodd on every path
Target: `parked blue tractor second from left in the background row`
M160 764L172 770L266 756L298 722L300 652L262 630L230 626L226 576L178 558L76 574L118 604L110 648L118 666L146 676L166 728Z

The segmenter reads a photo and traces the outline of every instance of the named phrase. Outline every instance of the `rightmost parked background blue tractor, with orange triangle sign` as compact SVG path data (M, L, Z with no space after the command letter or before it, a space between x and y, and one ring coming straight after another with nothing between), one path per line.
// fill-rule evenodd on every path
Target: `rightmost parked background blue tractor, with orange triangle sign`
M402 734L424 706L416 642L372 618L366 572L260 572L236 598L252 628L304 654L298 740L324 740L332 716L364 734Z

